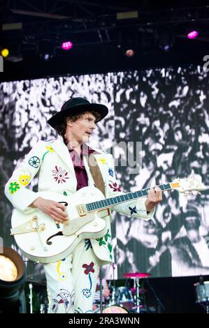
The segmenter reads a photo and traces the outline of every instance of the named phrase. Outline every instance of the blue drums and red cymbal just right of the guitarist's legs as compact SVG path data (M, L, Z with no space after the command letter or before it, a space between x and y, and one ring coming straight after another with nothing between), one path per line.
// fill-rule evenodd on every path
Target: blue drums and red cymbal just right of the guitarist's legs
M140 313L145 308L142 296L144 296L146 290L140 288L140 279L148 278L150 274L131 272L123 274L123 276L124 278L134 279L134 288L115 287L115 281L113 280L110 299L108 304L103 306L102 313ZM100 313L99 307L96 308L94 313Z

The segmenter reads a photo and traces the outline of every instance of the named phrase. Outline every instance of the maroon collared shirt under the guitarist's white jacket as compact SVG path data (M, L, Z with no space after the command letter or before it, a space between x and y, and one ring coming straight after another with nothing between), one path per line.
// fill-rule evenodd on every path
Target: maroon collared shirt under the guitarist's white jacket
M84 149L81 149L80 155L78 155L77 151L73 149L69 149L69 152L73 161L75 177L77 179L76 190L78 191L80 188L88 186L88 177L87 177L87 172L85 170L85 166L83 165L83 156L90 155L92 153L96 154L96 151L85 145Z

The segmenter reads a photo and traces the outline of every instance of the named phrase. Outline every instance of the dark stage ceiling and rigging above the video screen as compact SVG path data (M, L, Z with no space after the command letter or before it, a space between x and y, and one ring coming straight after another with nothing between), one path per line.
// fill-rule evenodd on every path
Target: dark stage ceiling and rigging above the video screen
M163 2L1 1L1 22L22 23L22 29L1 31L0 47L10 49L1 79L202 64L209 40L207 1ZM130 11L138 18L117 20L117 13ZM191 28L199 31L195 40L186 37ZM61 49L64 40L73 42L69 52ZM47 47L50 61L42 59ZM130 48L135 56L127 58Z

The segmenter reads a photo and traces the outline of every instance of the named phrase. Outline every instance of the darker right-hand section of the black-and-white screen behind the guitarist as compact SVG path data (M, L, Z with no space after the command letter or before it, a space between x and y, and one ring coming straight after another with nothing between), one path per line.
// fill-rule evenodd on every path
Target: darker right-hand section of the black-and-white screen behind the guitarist
M131 174L128 166L120 167L122 189L136 191L165 184L191 172L201 174L207 186L207 74L200 67L150 69L117 73L115 80L116 140L124 140L123 133L127 141L140 140L143 156L139 174ZM194 247L199 261L182 267L183 260L173 248L180 234L188 236L184 218L191 204L196 219L198 216L201 220L200 234L194 229L191 232L196 234ZM185 200L178 192L168 191L151 222L116 214L117 276L122 278L127 271L148 272L152 276L208 274L207 211L208 192Z

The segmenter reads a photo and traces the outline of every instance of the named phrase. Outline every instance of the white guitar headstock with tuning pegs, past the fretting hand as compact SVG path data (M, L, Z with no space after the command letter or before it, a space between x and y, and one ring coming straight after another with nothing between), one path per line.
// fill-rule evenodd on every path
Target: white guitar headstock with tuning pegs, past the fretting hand
M199 174L191 174L187 178L178 178L170 183L171 187L180 193L200 193L206 191L207 187L202 183L202 178Z

